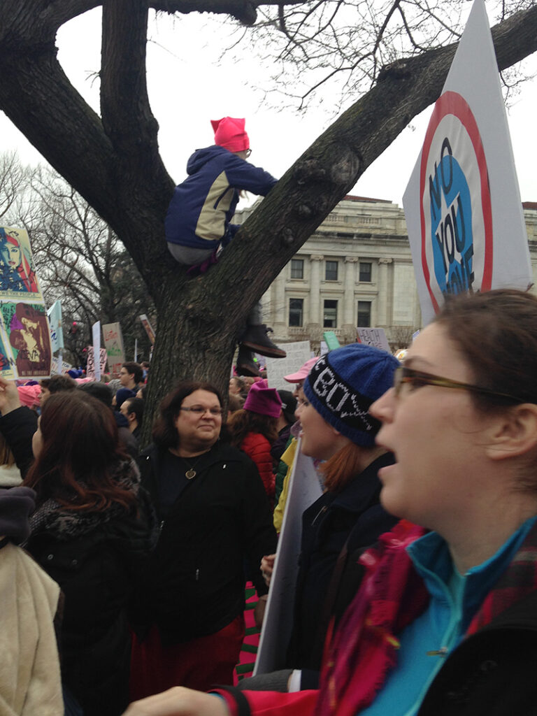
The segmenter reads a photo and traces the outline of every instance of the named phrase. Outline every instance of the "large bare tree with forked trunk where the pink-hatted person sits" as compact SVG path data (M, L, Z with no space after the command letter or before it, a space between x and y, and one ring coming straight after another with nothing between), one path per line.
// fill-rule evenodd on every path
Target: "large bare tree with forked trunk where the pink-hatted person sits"
M57 27L102 4L101 112L57 61ZM213 0L3 0L0 107L39 152L112 226L158 308L148 402L180 377L225 387L246 314L364 170L440 95L455 45L385 69L379 82L285 173L207 274L187 279L169 256L164 218L173 182L158 154L147 99L150 7L254 12L261 2ZM249 8L249 10L248 10ZM493 29L500 69L537 49L537 8Z

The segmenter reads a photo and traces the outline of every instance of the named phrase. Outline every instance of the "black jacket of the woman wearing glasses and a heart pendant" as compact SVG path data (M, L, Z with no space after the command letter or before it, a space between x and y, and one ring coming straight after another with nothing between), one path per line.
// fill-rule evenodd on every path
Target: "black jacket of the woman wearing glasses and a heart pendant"
M142 485L160 513L158 482L165 450L140 455ZM259 563L276 533L256 466L218 442L161 523L138 619L156 623L166 644L213 634L243 610L246 575L266 593Z

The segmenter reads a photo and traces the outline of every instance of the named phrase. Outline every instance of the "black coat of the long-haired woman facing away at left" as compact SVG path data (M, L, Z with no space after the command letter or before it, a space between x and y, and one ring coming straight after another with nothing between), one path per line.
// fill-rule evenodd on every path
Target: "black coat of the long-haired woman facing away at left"
M155 517L140 490L130 511L102 513L89 530L80 518L71 513L64 533L37 527L26 549L64 593L62 681L84 716L119 716L128 704L128 603L153 548Z

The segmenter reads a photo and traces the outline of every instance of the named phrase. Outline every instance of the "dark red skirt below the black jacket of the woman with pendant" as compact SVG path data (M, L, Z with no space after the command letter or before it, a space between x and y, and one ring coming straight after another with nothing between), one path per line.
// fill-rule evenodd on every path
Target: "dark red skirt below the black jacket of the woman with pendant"
M244 618L239 614L215 634L164 647L153 624L140 642L132 635L130 699L136 701L173 686L208 691L215 684L233 684L244 638Z

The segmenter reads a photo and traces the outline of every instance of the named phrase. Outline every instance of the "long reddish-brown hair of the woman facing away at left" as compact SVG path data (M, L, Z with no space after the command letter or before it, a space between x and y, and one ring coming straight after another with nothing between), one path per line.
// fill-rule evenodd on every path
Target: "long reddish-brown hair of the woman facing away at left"
M129 509L136 495L115 474L129 458L117 442L112 411L87 393L51 395L42 410L42 449L24 485L37 503L53 498L64 509L102 512L119 503Z

